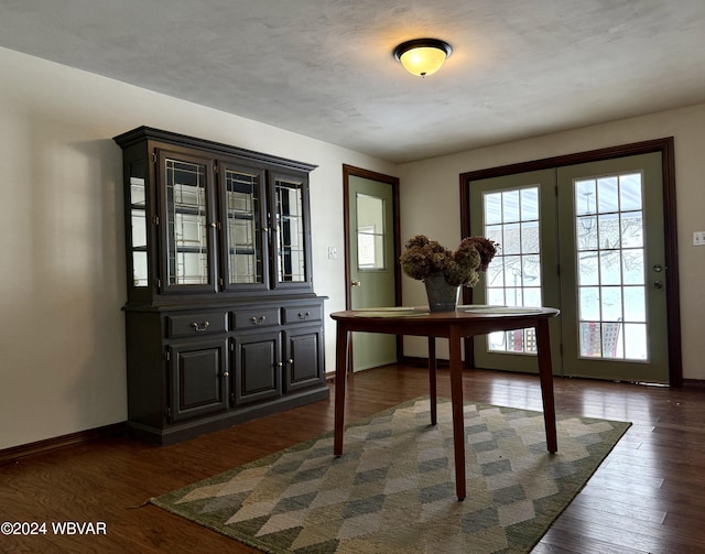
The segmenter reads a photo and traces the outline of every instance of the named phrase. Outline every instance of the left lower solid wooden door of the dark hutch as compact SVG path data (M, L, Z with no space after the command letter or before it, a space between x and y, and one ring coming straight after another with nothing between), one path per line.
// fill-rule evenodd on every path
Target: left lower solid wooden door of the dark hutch
M227 410L227 339L169 347L171 421Z

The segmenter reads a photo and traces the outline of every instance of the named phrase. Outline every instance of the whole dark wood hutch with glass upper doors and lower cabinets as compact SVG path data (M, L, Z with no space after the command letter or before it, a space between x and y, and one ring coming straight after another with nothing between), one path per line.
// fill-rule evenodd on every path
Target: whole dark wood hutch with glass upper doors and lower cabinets
M122 148L128 426L171 444L328 398L314 165L148 127Z

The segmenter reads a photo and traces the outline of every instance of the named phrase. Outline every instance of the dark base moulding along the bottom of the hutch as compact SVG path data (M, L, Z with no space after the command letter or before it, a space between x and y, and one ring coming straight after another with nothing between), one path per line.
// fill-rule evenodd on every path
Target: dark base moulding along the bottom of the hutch
M127 432L130 436L147 441L152 444L167 446L180 443L200 435L220 431L249 420L263 417L276 412L284 412L292 408L311 404L321 400L327 400L330 391L327 387L302 391L296 394L289 394L273 402L252 404L239 409L228 410L207 417L177 423L164 428L143 425L139 422L128 421Z

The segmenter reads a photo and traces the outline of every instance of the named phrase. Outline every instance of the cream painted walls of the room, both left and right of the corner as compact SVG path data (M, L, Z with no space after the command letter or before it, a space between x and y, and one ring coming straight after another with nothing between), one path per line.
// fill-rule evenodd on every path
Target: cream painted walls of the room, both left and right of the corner
M402 238L459 238L458 174L674 135L684 377L705 379L705 105L456 155L393 164L0 48L0 449L124 421L126 300L120 149L147 124L318 165L312 173L315 290L345 307L341 164L402 177ZM425 302L404 278L404 303ZM334 328L326 324L333 369ZM425 355L409 339L408 352ZM443 351L441 351L443 354Z

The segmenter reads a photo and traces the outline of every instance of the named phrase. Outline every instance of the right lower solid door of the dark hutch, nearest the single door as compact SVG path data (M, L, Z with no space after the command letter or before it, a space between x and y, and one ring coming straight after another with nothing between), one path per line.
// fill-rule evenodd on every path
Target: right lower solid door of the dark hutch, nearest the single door
M288 330L286 391L319 384L323 380L321 327Z

